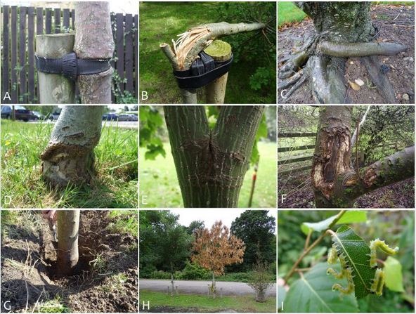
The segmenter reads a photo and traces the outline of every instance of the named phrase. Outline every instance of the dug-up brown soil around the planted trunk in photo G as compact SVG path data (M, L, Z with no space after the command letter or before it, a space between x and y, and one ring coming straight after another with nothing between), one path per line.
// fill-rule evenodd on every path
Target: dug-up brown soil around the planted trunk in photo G
M105 230L112 222L109 213L81 211L79 264L77 274L69 277L60 275L56 267L53 244L57 243L40 214L35 214L34 233L14 226L13 239L2 237L1 313L25 313L26 307L32 312L37 301L54 300L57 295L72 313L137 313L138 240ZM105 262L105 273L92 267L97 254ZM11 301L11 310L5 310L5 301Z

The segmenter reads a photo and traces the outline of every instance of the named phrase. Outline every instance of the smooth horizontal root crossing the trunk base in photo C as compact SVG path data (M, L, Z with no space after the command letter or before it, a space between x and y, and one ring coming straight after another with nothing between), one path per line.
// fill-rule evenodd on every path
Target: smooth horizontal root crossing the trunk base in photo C
M393 43L336 43L322 41L317 50L332 57L366 57L368 55L396 55L408 47Z

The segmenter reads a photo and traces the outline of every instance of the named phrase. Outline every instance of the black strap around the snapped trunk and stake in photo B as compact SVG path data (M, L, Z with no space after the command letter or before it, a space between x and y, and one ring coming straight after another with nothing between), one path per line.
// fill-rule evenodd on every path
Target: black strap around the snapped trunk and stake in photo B
M233 54L226 61L214 61L201 51L200 59L195 60L189 70L174 70L174 77L180 89L198 89L226 74L232 63Z

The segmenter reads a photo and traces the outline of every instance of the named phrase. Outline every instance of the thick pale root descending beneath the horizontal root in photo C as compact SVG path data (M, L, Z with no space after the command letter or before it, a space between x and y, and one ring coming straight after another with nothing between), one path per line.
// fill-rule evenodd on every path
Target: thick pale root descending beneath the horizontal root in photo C
M314 55L306 73L316 103L349 103L344 84L345 59Z

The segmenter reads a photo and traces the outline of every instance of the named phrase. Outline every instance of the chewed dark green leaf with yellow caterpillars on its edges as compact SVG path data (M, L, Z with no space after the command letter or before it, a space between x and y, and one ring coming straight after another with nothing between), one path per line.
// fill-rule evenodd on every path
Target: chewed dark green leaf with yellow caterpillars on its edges
M337 233L332 235L332 243L337 247L337 253L344 255L346 265L353 270L356 297L367 296L375 277L375 268L370 267L370 247L348 225L338 228Z

